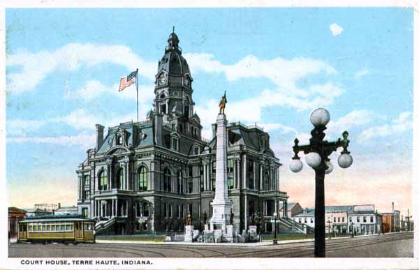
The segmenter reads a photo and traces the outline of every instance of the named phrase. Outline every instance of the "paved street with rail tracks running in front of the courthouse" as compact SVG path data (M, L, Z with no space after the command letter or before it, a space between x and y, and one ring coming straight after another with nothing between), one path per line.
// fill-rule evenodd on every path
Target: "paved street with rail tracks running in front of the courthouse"
M314 242L277 246L10 243L8 250L9 257L313 257ZM327 257L413 257L413 233L333 239L326 243L326 254Z

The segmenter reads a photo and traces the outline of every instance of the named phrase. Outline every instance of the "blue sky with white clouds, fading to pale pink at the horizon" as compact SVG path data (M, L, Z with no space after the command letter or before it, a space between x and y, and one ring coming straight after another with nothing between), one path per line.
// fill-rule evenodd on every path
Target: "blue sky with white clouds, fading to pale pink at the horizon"
M6 181L9 205L77 203L77 170L96 123L140 120L172 27L210 138L219 97L228 121L258 123L283 164L289 202L314 206L314 170L290 172L316 107L327 140L348 130L353 165L325 178L328 205L411 208L413 10L409 8L6 9Z

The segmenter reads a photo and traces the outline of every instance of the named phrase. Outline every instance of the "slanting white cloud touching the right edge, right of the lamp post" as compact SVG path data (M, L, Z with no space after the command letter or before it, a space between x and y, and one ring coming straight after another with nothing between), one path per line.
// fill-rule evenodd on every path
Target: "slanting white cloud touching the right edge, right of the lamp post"
M367 142L373 138L397 135L411 130L413 128L413 114L411 112L402 112L397 119L386 123L383 126L373 126L362 131L358 135L360 142Z

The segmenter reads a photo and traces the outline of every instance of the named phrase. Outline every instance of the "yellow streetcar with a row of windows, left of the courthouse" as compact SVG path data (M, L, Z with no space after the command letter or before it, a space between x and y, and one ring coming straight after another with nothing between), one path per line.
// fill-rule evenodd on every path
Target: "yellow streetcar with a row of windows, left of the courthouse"
M95 242L95 221L82 216L34 216L18 225L17 242Z

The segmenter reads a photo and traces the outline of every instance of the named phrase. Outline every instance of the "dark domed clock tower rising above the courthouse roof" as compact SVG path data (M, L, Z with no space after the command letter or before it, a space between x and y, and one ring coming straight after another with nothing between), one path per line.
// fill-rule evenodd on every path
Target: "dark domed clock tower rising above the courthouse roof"
M170 33L165 54L159 61L154 88L154 112L163 116L163 122L179 133L200 138L202 126L193 112L191 71L182 57L179 38Z

